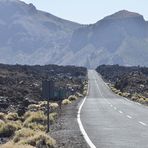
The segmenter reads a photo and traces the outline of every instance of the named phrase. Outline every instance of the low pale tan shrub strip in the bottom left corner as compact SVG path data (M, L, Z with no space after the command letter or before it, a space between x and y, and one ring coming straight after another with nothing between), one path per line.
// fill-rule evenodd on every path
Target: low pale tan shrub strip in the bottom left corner
M21 145L13 142L7 142L6 144L1 145L1 148L35 148L35 147L26 144Z

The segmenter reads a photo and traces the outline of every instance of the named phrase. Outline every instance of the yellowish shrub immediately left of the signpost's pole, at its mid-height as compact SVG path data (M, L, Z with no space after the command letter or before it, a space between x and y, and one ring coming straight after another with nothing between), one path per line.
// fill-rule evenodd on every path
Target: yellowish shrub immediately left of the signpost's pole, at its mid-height
M38 112L28 112L25 116L26 120L24 121L24 126L28 127L29 123L39 123L39 124L45 124L46 123L46 116L44 112L38 111Z

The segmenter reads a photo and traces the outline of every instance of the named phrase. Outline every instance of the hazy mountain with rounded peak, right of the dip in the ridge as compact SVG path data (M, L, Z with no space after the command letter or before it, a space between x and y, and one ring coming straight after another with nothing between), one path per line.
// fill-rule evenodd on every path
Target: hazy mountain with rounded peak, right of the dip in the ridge
M148 66L148 23L137 13L119 11L75 30L70 49L75 56L63 64L72 64L78 57L81 61L76 64L93 68L97 64Z

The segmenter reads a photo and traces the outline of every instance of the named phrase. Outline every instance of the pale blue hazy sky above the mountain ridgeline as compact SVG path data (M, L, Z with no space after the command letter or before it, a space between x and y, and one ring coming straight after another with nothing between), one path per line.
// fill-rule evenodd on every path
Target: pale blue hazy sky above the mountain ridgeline
M148 20L148 0L23 0L37 9L82 24L95 23L119 10L138 12Z

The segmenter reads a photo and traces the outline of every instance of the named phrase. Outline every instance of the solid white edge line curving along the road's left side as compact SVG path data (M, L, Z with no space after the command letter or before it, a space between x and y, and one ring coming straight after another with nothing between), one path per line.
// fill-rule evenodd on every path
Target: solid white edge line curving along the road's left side
M88 90L89 90L89 84L88 84ZM88 90L87 90L87 95L88 95ZM96 146L92 143L92 141L90 140L90 138L88 137L84 127L83 127L83 124L82 124L82 121L81 121L81 110L82 110L82 107L85 103L85 100L86 100L87 97L85 97L83 99L83 102L81 103L79 109L78 109L78 113L77 113L77 122L78 122L78 125L79 125L79 128L80 128L80 131L85 139L85 141L87 142L87 144L90 146L90 148L96 148Z

